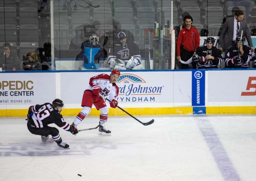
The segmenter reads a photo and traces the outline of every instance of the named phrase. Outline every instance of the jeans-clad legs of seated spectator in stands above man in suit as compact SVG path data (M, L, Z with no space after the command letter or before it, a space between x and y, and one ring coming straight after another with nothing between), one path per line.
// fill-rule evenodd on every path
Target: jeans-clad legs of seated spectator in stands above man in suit
M248 21L254 4L255 3L252 0L228 0L225 2L224 8L227 10L230 6L244 6L246 11L246 20Z

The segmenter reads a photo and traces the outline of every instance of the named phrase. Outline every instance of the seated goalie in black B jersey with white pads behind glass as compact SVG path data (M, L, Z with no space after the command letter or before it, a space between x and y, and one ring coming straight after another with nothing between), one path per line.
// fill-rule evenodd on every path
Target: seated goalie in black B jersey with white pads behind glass
M119 41L114 43L113 48L109 48L108 52L107 60L110 64L110 69L144 69L136 42L127 40L126 34L122 31L117 36Z

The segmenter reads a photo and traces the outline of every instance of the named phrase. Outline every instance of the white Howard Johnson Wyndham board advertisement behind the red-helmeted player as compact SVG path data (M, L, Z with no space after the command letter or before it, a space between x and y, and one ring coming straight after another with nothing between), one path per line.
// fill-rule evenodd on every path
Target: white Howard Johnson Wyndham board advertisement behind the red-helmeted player
M65 98L66 104L80 105L90 78L98 74L100 72L60 73L61 97ZM120 105L168 103L172 106L173 96L170 95L173 95L173 72L123 72L116 84L119 87L117 100Z

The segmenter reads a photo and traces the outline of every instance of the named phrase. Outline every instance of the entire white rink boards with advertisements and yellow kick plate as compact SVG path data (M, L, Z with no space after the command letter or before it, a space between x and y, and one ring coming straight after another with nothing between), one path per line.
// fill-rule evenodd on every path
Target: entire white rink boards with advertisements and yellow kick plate
M110 71L1 73L0 116L26 116L30 105L55 98L64 116L75 116L90 77L101 73ZM123 71L117 85L119 106L134 115L256 114L255 69ZM109 115L125 114L110 108Z

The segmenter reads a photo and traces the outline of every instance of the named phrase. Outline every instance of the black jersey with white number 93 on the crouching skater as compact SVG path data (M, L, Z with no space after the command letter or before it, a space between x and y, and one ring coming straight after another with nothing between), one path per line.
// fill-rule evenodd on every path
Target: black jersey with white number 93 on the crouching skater
M32 125L36 128L43 128L51 123L54 123L66 131L70 128L70 125L64 121L62 114L60 114L58 110L55 110L50 103L42 105L36 104L32 107L32 111L34 114L29 121L32 122Z

